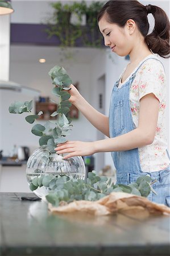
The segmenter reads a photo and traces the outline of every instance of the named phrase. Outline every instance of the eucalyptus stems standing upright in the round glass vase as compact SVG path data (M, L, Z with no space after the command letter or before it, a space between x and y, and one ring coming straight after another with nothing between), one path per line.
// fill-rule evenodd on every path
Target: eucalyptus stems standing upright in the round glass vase
M49 152L55 153L54 148L57 143L64 143L67 141L65 138L68 135L69 130L72 130L71 120L67 118L67 114L71 108L71 102L69 102L70 94L68 93L69 86L72 84L71 78L63 67L55 66L49 71L52 84L55 87L52 89L52 93L59 98L59 105L57 111L51 114L52 117L56 117L56 120L48 121L45 125L36 123L31 129L31 132L39 136L40 146L47 145ZM28 123L37 122L43 112L38 114L32 114L32 101L28 102L14 102L9 106L9 112L13 114L29 113L25 118ZM32 188L35 188L35 184L32 184Z

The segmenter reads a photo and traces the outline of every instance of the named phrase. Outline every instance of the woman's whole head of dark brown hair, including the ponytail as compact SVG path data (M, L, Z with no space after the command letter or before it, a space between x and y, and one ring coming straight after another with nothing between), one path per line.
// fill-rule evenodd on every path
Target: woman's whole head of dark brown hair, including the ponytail
M151 34L148 34L148 13L154 15L155 18L155 27ZM116 23L120 27L124 27L128 19L133 19L140 33L144 36L148 48L161 57L169 57L169 19L165 11L160 7L154 5L144 6L137 0L113 0L108 1L102 7L98 14L98 22L103 15L106 15L107 22Z

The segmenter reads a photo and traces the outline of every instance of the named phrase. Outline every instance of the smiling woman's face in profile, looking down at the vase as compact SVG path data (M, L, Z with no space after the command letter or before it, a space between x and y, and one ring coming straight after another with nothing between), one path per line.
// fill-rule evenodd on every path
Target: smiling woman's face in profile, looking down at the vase
M98 22L98 26L103 35L105 46L109 46L111 51L119 56L126 56L130 53L131 42L126 25L125 27L119 27L115 23L109 23L103 15Z

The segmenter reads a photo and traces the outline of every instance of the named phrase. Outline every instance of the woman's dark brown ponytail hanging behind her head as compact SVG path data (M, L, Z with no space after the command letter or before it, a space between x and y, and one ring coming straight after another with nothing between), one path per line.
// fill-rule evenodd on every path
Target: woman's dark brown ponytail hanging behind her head
M146 35L145 41L152 52L161 57L168 58L170 53L169 46L169 19L164 10L158 6L146 6L147 14L151 13L155 18L155 27L151 34Z

